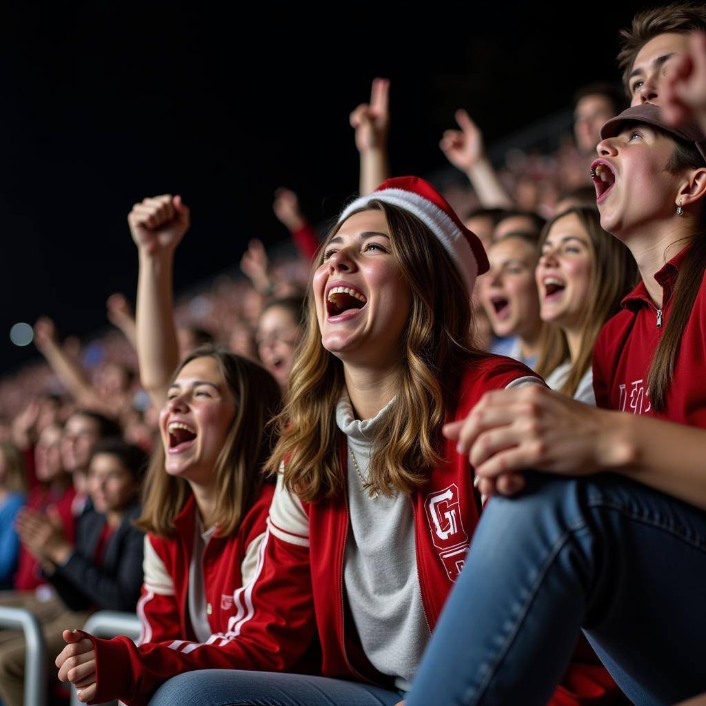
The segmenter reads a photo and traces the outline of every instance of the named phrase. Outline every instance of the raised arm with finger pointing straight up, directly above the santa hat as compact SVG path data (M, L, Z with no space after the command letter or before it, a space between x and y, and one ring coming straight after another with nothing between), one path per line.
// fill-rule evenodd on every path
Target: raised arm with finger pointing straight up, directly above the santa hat
M361 103L350 116L360 155L360 193L371 193L390 177L390 80L373 78L370 102Z

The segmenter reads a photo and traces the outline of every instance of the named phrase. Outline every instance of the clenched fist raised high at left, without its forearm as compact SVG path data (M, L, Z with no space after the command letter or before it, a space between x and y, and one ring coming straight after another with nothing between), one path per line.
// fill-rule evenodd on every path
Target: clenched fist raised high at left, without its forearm
M181 196L165 193L136 203L128 214L135 244L147 255L174 251L189 229L189 208Z

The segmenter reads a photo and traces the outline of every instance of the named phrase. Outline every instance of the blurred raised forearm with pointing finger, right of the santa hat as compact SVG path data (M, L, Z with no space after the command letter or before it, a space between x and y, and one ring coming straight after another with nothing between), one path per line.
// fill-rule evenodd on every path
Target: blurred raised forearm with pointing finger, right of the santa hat
M486 155L483 133L465 110L457 110L455 118L460 130L445 131L439 143L446 159L468 177L484 208L514 208Z

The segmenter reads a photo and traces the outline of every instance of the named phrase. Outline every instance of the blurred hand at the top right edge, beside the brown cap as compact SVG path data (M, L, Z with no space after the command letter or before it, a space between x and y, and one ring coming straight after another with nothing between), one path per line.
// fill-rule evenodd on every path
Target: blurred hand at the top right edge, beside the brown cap
M706 34L693 32L688 54L675 57L659 85L662 115L678 126L695 120L706 130Z

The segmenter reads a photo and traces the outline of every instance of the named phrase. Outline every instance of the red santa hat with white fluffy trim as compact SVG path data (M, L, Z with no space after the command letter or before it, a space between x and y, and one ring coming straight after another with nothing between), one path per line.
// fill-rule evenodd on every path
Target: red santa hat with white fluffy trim
M345 221L354 211L366 208L371 201L383 201L417 216L451 256L469 292L473 291L476 277L488 271L488 256L483 244L474 232L463 225L453 208L429 181L419 177L388 179L372 193L349 203L338 223Z

